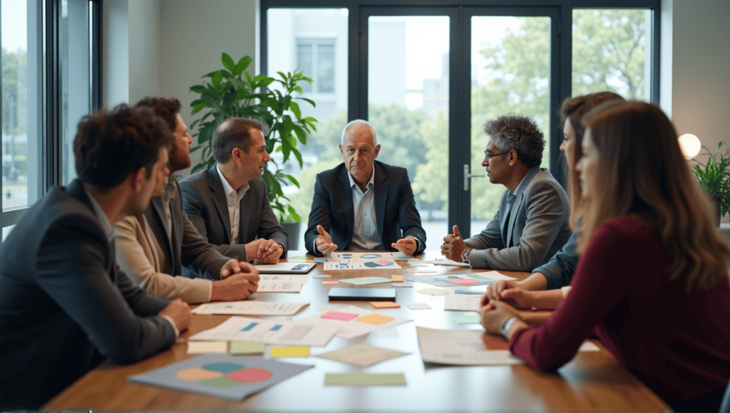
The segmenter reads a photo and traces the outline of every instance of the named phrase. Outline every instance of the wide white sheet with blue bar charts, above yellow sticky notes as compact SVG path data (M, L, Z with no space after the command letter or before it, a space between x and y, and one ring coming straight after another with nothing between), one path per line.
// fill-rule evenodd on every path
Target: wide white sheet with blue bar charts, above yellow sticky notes
M340 326L339 323L231 317L218 327L197 333L190 340L264 341L268 344L302 347L326 346Z

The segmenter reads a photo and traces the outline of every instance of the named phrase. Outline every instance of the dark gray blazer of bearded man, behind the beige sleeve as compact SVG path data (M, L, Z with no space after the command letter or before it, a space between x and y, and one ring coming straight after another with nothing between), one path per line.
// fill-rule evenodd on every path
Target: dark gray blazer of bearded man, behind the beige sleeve
M145 210L147 224L155 234L157 242L162 246L168 258L168 266L162 268L164 274L196 278L219 279L220 269L230 258L224 257L209 244L195 229L183 211L183 196L180 185L170 176L170 185L174 185L174 196L170 200L172 216L172 239L167 236L167 218L162 198L153 198ZM183 271L185 266L185 271Z

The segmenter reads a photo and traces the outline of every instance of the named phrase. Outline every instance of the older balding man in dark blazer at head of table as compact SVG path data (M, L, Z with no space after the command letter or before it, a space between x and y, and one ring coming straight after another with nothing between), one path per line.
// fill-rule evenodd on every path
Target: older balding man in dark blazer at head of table
M317 174L307 251L400 250L408 255L426 249L426 231L406 169L375 161L380 153L375 128L353 120L339 145L344 163Z

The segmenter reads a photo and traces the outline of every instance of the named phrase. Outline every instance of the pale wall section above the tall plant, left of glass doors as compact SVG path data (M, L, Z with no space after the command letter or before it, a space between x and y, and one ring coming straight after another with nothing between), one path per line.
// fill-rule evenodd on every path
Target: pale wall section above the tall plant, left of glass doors
M190 87L199 85L202 75L223 68L221 53L234 61L244 55L257 60L258 0L161 0L161 4L160 94L180 99L180 115L190 126L197 118L191 116L190 104L199 96ZM247 72L254 74L254 66L251 63ZM193 165L198 162L193 154Z

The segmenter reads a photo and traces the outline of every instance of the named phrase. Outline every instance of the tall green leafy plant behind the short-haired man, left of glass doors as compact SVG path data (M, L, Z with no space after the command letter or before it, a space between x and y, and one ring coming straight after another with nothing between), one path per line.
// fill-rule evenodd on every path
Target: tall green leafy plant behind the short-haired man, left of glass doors
M220 58L223 69L205 74L202 85L194 85L191 92L199 93L200 98L191 103L192 114L205 111L204 115L191 124L191 129L197 127L197 144L192 151L201 151L201 162L193 167L193 173L201 169L210 168L215 163L212 154L211 140L213 131L228 117L252 117L261 120L269 126L269 132L264 136L266 152L283 154L280 165L272 159L276 166L274 173L264 169L264 182L268 190L269 202L277 211L282 222L299 223L301 218L288 205L289 198L284 195L283 185L296 185L299 182L294 177L283 172L283 164L293 155L299 166L302 165L301 153L296 149L297 141L307 144L307 135L316 131L317 120L314 117L302 116L296 100L305 101L315 106L311 99L295 96L303 93L301 82L312 82L302 72L278 72L279 77L268 77L258 74L251 77L245 72L252 59L242 57L237 63L227 53ZM274 83L275 88L269 88Z

